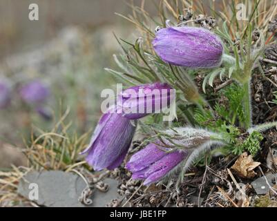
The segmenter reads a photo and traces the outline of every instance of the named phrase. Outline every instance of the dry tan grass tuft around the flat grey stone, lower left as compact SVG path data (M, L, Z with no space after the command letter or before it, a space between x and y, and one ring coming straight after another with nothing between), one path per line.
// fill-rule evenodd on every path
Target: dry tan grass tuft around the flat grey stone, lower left
M87 166L79 155L86 148L90 132L78 136L69 133L71 123L65 123L69 109L61 116L52 131L35 128L30 144L22 149L28 158L28 167L12 166L8 171L0 171L0 206L34 206L17 193L19 180L29 171L61 170L70 172L77 166Z

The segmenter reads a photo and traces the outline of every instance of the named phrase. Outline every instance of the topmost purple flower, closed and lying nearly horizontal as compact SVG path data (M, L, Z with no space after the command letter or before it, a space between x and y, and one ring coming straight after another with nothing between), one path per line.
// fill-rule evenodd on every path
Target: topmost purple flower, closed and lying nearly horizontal
M163 61L176 66L213 68L222 61L222 41L204 28L162 28L152 44Z

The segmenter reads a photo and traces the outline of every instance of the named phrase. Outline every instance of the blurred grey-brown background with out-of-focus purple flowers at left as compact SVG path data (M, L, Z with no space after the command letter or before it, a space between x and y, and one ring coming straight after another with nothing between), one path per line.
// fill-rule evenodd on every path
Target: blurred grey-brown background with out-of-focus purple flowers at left
M30 3L39 6L38 21L29 19ZM131 23L115 15L130 13L128 3L0 0L0 168L25 164L15 147L28 143L34 126L50 130L66 110L73 133L93 129L100 93L115 84L104 70L120 51L113 32L135 38Z

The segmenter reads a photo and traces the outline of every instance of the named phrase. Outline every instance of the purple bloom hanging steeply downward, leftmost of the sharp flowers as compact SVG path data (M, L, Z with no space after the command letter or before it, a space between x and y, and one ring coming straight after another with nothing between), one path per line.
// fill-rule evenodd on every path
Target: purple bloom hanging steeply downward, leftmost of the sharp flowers
M105 113L95 128L93 137L82 154L95 171L115 169L122 164L133 139L135 126L118 113Z

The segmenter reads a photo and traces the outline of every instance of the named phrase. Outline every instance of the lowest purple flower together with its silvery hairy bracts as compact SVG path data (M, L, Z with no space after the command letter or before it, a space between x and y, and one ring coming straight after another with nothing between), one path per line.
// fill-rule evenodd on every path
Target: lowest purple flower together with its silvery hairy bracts
M186 171L202 151L208 151L213 144L220 144L212 139L220 139L220 135L198 128L173 128L164 131L164 135L128 161L126 169L133 173L133 179L144 180L147 185L162 180L180 166Z

